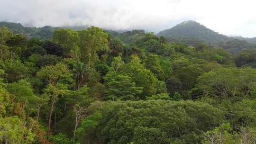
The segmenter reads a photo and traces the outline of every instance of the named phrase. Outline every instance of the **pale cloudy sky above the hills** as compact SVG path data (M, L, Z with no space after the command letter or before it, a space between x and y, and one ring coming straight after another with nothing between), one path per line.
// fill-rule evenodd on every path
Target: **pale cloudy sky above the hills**
M256 0L0 0L0 21L159 32L194 20L227 36L256 37Z

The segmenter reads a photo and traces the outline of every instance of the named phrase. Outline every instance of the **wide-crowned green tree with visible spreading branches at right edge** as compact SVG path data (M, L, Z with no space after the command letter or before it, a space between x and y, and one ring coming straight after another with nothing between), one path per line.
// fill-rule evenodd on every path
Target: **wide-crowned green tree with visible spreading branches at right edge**
M245 99L255 90L255 78L252 68L219 68L199 76L195 90L213 97Z

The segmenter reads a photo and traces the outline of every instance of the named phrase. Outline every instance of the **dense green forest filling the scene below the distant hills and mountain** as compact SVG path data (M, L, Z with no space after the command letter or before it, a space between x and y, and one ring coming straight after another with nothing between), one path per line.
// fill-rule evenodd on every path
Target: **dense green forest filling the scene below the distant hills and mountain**
M256 47L196 41L0 27L0 144L256 144Z

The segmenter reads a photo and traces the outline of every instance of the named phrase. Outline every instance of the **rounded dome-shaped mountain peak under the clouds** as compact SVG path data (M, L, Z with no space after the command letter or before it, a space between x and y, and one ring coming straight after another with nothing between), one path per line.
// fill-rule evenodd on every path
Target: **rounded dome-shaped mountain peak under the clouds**
M159 32L157 35L175 39L195 37L208 43L219 43L229 40L228 36L220 35L192 20L184 21L175 27Z

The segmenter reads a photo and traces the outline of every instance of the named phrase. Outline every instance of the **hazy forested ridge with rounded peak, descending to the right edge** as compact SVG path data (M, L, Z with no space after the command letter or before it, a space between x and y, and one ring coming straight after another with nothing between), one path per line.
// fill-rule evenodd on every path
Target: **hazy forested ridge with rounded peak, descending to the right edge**
M181 42L195 46L205 42L213 47L222 47L230 53L256 48L255 38L228 37L220 35L195 21L184 21L177 26L161 31L158 36L165 36L169 42Z

